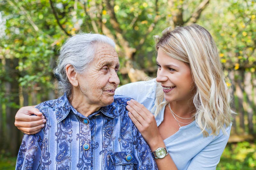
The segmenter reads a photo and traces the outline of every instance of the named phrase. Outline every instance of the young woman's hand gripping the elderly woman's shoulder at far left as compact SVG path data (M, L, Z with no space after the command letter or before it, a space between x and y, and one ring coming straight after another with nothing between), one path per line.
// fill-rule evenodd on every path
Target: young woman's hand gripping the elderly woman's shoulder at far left
M43 114L38 109L33 106L26 106L18 110L14 124L23 133L33 135L41 131L45 122Z

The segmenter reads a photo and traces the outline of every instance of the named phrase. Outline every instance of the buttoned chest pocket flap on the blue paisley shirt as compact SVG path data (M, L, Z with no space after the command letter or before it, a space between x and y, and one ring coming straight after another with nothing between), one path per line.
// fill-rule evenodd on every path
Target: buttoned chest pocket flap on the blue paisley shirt
M122 169L122 166L125 167L124 169L133 169L137 167L138 164L133 152L112 152L110 159L116 169L118 169L118 167Z

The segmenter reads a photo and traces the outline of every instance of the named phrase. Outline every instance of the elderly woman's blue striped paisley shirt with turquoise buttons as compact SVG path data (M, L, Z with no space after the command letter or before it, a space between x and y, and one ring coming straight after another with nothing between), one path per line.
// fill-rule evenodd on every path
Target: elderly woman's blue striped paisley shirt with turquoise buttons
M66 95L37 105L46 124L35 135L24 135L16 169L157 169L128 117L130 99L115 96L89 117L77 112Z

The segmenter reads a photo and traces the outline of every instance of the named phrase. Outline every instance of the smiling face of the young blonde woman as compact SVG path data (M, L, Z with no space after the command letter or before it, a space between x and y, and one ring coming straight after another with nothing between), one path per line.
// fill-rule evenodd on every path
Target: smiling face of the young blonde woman
M186 101L195 95L195 83L187 63L176 60L158 49L156 81L161 83L167 102Z

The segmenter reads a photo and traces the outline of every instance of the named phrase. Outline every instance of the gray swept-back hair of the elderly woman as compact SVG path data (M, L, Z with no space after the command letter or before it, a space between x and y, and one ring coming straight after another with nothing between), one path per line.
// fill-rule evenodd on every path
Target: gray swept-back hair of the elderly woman
M115 42L105 35L93 33L79 33L68 38L60 49L58 64L54 75L59 81L58 89L61 93L71 95L71 83L66 74L68 64L74 67L78 74L84 73L95 56L95 44L106 43L115 48Z

